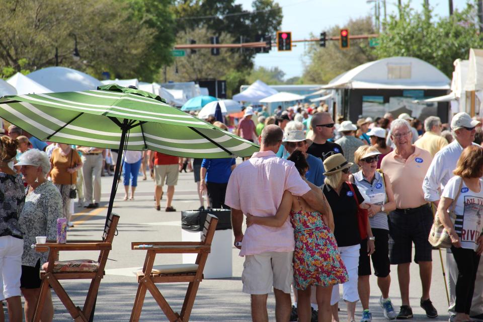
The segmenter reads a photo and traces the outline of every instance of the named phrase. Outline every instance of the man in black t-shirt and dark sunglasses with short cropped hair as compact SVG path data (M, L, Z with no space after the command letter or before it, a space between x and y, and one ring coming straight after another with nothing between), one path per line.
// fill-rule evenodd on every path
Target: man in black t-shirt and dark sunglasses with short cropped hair
M328 141L334 136L334 120L328 112L315 113L310 121L313 135L313 143L307 149L307 153L324 160L332 154L342 153L342 147L334 142Z

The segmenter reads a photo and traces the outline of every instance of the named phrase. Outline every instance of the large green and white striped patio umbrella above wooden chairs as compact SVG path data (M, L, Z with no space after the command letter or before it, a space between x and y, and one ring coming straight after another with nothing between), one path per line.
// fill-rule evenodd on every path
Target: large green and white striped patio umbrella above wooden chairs
M259 147L166 104L154 94L106 85L96 91L6 96L0 117L40 140L150 149L195 158L250 156Z

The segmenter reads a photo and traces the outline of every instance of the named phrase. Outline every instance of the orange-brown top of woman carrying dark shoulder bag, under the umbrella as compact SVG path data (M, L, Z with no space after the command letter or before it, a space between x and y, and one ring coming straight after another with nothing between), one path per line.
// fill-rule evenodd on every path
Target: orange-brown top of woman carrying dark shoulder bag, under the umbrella
M77 171L73 174L67 172L68 168L74 168L76 165L81 164L81 156L71 149L67 155L62 155L60 147L52 151L52 156L50 157L50 163L52 165L52 170L50 171L50 176L52 177L52 182L59 185L75 185L77 182Z

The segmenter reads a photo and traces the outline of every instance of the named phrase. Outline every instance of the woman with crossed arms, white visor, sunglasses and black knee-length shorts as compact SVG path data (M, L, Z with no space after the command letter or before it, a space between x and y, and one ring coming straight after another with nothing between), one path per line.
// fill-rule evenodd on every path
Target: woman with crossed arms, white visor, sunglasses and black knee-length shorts
M381 155L374 146L360 146L354 153L354 162L359 166L360 171L349 176L349 180L364 193L369 202L369 223L371 225L374 239L374 253L370 256L374 275L377 276L377 285L381 290L379 304L382 306L384 317L394 319L396 312L389 299L389 286L391 277L389 275L389 225L387 213L396 208L394 194L392 193L391 182L383 174L376 171L378 158ZM367 239L362 240L359 253L358 289L362 304L361 321L370 320L369 276L371 275L371 264L369 263Z

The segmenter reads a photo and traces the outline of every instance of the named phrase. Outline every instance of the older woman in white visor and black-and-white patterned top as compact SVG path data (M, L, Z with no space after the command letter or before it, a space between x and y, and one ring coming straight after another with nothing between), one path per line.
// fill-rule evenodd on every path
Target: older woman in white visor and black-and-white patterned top
M40 266L47 262L48 256L48 253L38 253L30 246L36 243L36 236L56 238L57 218L62 217L62 198L54 184L46 179L50 171L47 153L37 149L28 150L22 154L17 165L22 167L22 179L29 185L19 224L24 232L20 289L25 297L25 319L30 321L40 293ZM41 320L51 321L53 314L49 292Z

